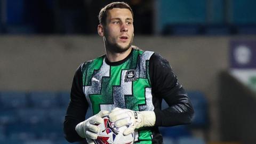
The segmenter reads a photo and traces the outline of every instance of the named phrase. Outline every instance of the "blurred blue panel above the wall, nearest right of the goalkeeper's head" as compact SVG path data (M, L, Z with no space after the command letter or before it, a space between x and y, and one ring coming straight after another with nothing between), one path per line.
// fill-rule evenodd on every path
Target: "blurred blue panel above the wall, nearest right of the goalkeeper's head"
M158 17L158 29L163 31L167 25L195 25L206 22L206 1L177 1L177 0L160 0L157 1L156 9ZM180 29L177 34L185 34L185 29ZM193 29L187 29L191 34ZM186 32L187 33L187 32Z

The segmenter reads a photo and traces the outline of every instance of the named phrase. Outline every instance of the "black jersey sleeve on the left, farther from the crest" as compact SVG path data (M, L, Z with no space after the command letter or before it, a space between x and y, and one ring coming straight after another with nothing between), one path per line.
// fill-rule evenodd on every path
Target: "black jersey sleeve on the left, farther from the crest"
M75 127L85 120L88 103L83 93L82 65L76 70L70 92L70 101L64 121L64 134L69 142L82 141Z

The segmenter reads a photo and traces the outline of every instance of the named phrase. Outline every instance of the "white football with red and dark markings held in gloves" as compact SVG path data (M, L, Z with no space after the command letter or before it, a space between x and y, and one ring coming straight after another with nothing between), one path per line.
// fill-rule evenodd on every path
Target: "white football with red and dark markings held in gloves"
M115 123L109 121L108 116L103 117L104 123L99 124L100 131L98 137L94 140L97 144L132 144L134 141L134 132L129 135L123 135L123 132L130 125L116 127Z

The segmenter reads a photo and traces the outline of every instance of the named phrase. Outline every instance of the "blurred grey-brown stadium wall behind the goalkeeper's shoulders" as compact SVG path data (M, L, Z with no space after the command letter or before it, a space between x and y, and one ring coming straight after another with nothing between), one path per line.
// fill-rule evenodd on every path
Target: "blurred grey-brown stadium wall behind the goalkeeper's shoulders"
M169 60L179 82L205 93L210 103L210 139L218 140L218 73L228 69L229 41L250 37L135 36L134 45ZM69 91L77 67L104 54L99 36L0 36L0 90Z

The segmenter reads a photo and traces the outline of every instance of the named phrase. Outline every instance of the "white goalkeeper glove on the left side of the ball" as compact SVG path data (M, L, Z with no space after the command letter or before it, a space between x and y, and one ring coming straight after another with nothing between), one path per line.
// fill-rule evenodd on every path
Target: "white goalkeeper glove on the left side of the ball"
M103 118L109 114L109 111L101 110L98 114L86 119L85 121L76 125L76 132L77 134L82 137L86 138L89 144L94 143L93 140L97 139L99 132L99 127L94 124L101 124L103 123Z

